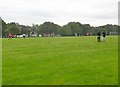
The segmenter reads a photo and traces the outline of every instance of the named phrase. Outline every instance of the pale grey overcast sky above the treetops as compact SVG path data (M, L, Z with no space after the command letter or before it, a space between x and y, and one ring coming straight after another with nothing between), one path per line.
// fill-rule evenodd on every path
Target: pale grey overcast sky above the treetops
M119 0L0 0L5 22L24 25L51 21L59 25L80 22L91 26L118 24Z

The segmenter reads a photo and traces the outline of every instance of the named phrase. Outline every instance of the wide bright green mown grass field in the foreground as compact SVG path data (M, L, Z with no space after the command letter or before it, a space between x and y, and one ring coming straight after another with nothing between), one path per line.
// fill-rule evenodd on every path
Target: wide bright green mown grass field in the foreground
M3 85L116 85L118 38L3 39Z

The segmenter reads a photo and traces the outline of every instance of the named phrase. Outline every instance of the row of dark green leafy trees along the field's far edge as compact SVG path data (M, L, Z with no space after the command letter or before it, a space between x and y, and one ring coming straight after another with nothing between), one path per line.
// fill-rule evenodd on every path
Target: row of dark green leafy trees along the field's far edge
M99 27L93 27L89 24L81 24L79 22L69 22L64 26L59 26L52 22L44 22L41 25L33 24L32 26L20 25L18 23L6 23L2 20L2 36L5 37L8 33L12 34L53 34L60 36L86 36L86 35L96 35L97 31L106 30L107 34L117 34L118 26L117 25L104 25Z

